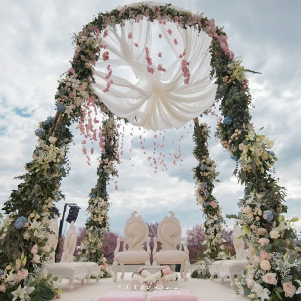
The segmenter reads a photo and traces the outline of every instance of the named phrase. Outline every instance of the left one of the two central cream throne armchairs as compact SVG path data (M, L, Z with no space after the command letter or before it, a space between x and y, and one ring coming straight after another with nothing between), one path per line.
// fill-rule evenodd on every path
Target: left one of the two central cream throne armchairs
M117 265L120 264L121 279L124 277L124 264L139 264L151 265L151 249L150 240L148 237L148 225L141 216L135 216L137 211L134 211L131 217L126 221L124 227L124 237L117 238L117 247L114 251L113 262L113 281L117 280ZM120 242L123 241L123 251L119 252ZM143 244L146 241L147 251L143 249ZM128 249L126 249L128 245Z

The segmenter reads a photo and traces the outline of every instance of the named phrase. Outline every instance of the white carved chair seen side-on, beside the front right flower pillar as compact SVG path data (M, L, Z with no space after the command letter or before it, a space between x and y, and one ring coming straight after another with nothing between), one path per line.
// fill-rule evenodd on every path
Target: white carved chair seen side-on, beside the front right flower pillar
M244 266L249 263L245 252L245 244L241 236L241 231L238 225L233 226L233 245L236 252L236 259L218 260L209 265L210 279L213 280L214 275L217 275L219 284L224 283L225 278L230 278L231 288L236 289L235 275L240 279L240 274L244 270Z

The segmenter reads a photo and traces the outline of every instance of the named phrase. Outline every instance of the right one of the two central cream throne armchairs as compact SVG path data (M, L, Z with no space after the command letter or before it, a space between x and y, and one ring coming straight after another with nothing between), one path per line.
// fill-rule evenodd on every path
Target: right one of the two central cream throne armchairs
M190 267L187 238L182 238L180 222L175 214L169 211L170 216L165 216L157 228L157 237L154 237L153 265L181 264L180 275L187 281L187 272ZM157 252L157 242L161 242L162 249ZM184 241L184 244L182 244ZM177 246L180 245L178 249ZM182 251L184 247L184 251ZM183 272L184 271L184 272Z

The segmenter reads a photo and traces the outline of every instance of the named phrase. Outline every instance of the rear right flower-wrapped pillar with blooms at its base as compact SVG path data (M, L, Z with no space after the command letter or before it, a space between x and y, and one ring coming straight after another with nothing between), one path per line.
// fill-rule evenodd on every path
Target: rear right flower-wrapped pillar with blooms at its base
M222 238L222 225L225 220L222 217L222 208L219 206L212 191L214 181L219 175L216 172L216 162L209 157L208 138L210 128L206 123L199 123L198 118L194 119L194 135L193 139L196 143L194 147L194 157L199 164L193 169L194 179L196 182L196 200L200 204L205 216L203 242L206 250L205 255L195 265L191 272L192 278L210 278L209 264L216 260L231 259L228 252L224 251Z

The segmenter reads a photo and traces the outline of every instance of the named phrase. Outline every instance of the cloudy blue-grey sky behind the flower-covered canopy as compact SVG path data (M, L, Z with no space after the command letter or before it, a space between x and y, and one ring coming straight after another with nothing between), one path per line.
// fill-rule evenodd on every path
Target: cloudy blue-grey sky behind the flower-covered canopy
M71 34L80 31L98 12L125 4L123 0L0 1L0 206L17 187L13 177L23 174L24 164L31 160L38 122L55 113L57 79L69 68L73 56ZM256 129L265 126L263 132L275 141L273 151L279 158L275 177L287 188L288 216L301 217L301 2L174 0L173 4L213 17L216 24L224 26L231 50L243 58L244 66L262 72L249 75L255 105L253 121ZM207 122L214 132L215 119L208 117ZM86 219L87 195L96 182L97 155L88 166L75 126L73 134L75 145L71 146L69 155L72 169L62 183L62 190L67 202L82 208L76 221L81 226ZM118 191L113 183L109 186L112 231L122 233L126 219L134 210L146 221L160 220L172 210L184 229L203 222L194 197L191 169L197 162L191 154L194 144L190 124L185 129L157 134L166 137L163 152L168 169L158 168L154 173L154 166L147 161L151 153L143 154L139 140L142 135L151 149L154 132L126 128L124 155L118 166ZM181 135L184 137L179 141ZM172 164L178 147L183 152L182 166ZM219 163L221 181L216 183L214 195L224 207L224 215L236 213L237 200L244 188L232 176L234 161L214 137L209 148L211 157ZM60 209L63 206L63 201L58 203ZM234 221L227 219L226 223L231 226ZM299 227L301 222L296 223L296 228Z

